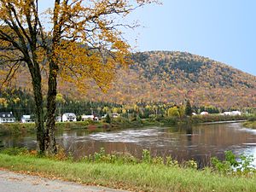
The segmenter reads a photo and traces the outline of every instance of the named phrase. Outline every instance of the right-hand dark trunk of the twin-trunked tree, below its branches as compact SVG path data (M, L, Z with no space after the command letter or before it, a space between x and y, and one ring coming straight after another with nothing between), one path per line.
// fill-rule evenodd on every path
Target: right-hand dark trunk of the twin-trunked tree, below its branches
M45 149L49 155L56 154L55 141L55 110L57 95L57 72L58 66L55 62L49 63L49 79L48 79L48 96L47 96L47 121L46 121L46 138Z

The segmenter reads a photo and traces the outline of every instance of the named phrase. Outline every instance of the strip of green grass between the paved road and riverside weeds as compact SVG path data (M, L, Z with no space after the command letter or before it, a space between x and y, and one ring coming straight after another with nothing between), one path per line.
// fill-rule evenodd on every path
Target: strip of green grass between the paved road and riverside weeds
M72 162L8 154L0 154L0 166L79 183L144 191L256 191L255 177L229 177L177 166Z

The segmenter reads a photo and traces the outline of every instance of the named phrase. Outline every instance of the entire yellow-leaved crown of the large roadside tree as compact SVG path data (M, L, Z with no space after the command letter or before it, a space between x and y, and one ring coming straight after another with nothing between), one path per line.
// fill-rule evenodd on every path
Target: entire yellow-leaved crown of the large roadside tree
M49 20L44 20L45 15L38 14L38 8L34 9L35 0L3 0L0 3L0 20L15 20L14 13L9 15L8 3L11 3L18 13L15 24L19 29L15 32L12 27L6 27L2 31L10 34L18 44L30 46L28 54L15 50L11 56L15 59L20 59L20 56L29 57L26 59L33 64L40 63L43 86L49 73L52 73L58 76L58 83L67 82L76 85L79 90L90 86L86 79L93 79L101 90L106 91L116 78L119 67L131 64L131 47L122 37L124 17L137 7L137 3L140 6L152 2L154 1L55 1L55 8L44 12L51 14L49 25ZM42 28L38 26L37 19ZM30 44L30 25L35 29L37 38L33 44ZM47 32L44 31L44 26L47 26ZM0 43L2 46L12 46L3 39ZM57 66L54 69L49 68L49 63L52 62ZM1 80L2 74L0 72Z

